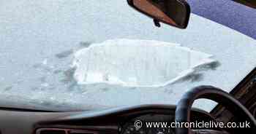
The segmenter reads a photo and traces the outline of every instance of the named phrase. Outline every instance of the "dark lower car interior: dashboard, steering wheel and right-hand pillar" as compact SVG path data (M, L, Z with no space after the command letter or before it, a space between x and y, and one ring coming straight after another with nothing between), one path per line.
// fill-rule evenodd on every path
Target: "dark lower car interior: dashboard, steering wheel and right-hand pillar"
M97 134L97 133L254 133L255 132L255 74L256 69L228 94L216 87L201 86L187 92L177 106L143 105L104 111L36 111L1 108L1 133L35 134ZM235 96L236 98L233 98ZM191 109L197 98L219 102L210 113ZM239 103L241 102L241 103ZM146 128L136 130L134 122L252 122L250 128ZM185 122L184 121L184 122Z

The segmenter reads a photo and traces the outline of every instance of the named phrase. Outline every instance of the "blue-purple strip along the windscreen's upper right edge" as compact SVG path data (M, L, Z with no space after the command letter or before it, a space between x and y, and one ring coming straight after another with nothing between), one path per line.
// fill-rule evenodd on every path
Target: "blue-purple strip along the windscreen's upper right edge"
M256 9L231 0L188 0L192 12L256 39Z

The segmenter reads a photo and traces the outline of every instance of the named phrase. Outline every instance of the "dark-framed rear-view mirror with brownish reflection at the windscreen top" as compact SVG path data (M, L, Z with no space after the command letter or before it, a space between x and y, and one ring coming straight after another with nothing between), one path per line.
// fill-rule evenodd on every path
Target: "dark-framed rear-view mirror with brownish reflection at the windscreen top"
M128 4L139 12L154 19L154 24L160 23L187 28L190 7L184 0L127 0Z

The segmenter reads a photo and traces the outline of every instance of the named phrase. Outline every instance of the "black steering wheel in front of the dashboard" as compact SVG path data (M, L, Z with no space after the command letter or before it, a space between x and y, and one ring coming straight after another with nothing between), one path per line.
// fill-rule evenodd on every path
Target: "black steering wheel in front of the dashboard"
M176 122L190 122L190 110L192 104L195 100L200 98L206 98L211 101L216 101L217 103L225 106L226 109L233 112L236 117L241 117L247 122L250 122L250 128L235 128L236 132L233 133L255 133L256 120L252 114L243 106L236 98L233 98L227 92L220 90L217 87L211 86L200 86L195 87L185 93L181 100L178 102L176 107ZM245 121L244 120L244 121ZM176 127L176 134L193 134L193 133L218 133L223 134L225 131L218 130L192 130L189 127Z

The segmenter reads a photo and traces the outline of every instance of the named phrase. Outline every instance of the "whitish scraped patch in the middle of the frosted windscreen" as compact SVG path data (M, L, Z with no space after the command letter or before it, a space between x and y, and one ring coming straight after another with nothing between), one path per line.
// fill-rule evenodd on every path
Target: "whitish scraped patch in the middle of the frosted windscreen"
M115 39L75 52L78 84L159 87L171 84L215 60L211 55L169 42Z

